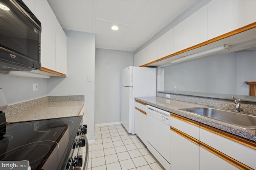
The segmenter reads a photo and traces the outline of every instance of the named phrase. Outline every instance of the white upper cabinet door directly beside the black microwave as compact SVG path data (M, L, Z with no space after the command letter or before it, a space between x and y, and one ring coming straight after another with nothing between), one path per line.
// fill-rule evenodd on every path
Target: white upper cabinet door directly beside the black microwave
M34 1L34 14L42 24L41 63L42 67L55 70L55 34L57 19L47 0Z

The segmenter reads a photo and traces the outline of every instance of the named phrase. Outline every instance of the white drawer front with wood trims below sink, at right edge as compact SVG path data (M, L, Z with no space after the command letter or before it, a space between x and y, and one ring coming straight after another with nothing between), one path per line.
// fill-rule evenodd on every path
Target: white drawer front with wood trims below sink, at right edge
M241 169L256 169L256 142L206 125L200 126L200 142L210 147L212 152L214 148L217 155L224 156L224 159Z

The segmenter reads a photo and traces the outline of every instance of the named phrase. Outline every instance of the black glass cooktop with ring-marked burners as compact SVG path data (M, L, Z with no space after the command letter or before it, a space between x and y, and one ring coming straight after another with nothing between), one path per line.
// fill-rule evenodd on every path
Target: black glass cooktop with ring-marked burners
M0 161L28 160L32 170L57 170L68 158L82 116L7 123L0 127Z

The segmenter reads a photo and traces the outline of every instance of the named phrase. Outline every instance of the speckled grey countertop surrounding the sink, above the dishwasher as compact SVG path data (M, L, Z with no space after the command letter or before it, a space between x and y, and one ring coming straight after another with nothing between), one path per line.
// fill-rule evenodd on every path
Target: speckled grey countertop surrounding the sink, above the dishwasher
M220 130L224 130L226 132L230 132L237 136L241 136L243 138L247 138L249 140L256 142L255 130L246 130L246 129L239 128L221 121L216 121L214 119L210 119L197 114L179 110L179 109L191 108L191 107L206 107L206 105L198 105L198 104L188 103L184 101L166 99L163 97L136 97L135 99L143 103L146 103L148 105L157 107L159 109L163 109L165 111L175 113L176 115L180 115L188 119L192 119L194 121L209 125L214 128L218 128Z

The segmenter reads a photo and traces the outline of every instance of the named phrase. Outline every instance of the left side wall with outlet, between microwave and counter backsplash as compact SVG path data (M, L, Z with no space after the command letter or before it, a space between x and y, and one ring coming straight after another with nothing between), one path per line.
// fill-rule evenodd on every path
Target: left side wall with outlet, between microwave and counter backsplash
M33 83L38 83L38 91L33 91ZM47 96L47 80L41 78L0 75L0 88L8 105Z

